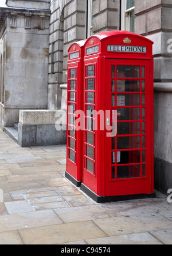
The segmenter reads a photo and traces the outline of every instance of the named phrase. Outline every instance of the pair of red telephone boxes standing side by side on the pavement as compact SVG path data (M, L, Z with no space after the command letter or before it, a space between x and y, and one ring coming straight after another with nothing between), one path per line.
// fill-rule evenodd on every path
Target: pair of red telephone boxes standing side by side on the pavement
M97 202L155 197L153 42L109 31L73 43L67 122L75 185Z

